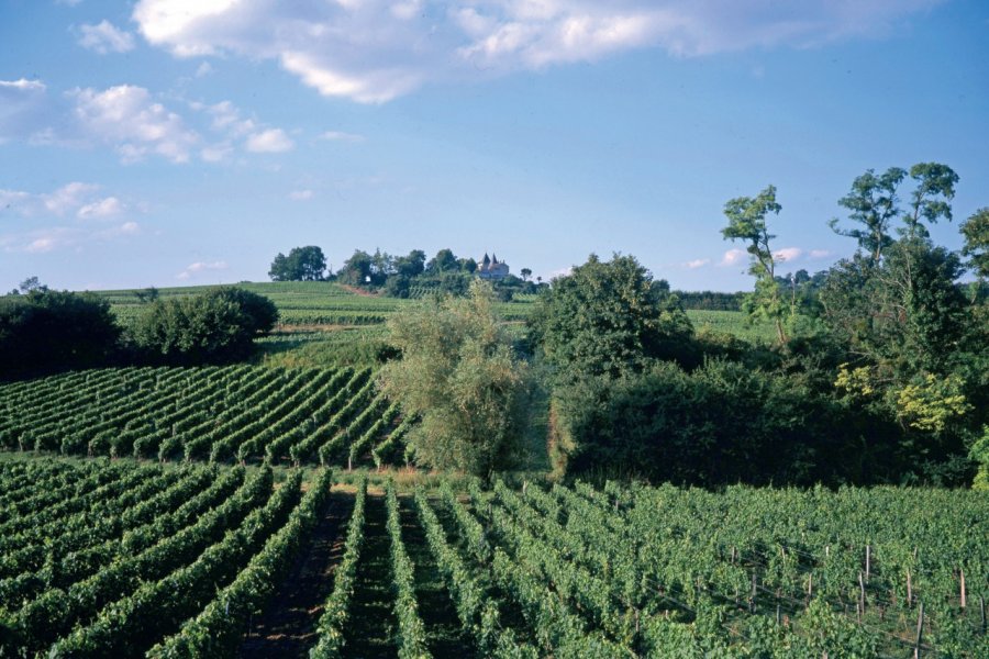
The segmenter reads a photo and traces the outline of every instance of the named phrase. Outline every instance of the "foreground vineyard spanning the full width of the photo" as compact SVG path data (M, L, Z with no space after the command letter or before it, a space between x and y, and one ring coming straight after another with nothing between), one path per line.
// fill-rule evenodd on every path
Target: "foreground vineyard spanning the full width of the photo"
M976 492L347 480L5 456L0 656L989 656Z

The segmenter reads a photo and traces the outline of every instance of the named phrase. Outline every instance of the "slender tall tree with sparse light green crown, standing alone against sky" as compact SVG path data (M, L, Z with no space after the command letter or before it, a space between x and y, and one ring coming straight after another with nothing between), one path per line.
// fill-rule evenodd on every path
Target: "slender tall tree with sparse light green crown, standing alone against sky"
M751 317L771 320L776 324L776 337L780 345L787 343L784 330L786 308L776 284L776 259L769 241L776 236L766 226L766 215L779 214L782 206L776 202L776 187L769 186L755 198L738 197L724 204L729 225L721 230L725 239L748 243L748 272L755 277L755 292L746 295L743 308Z

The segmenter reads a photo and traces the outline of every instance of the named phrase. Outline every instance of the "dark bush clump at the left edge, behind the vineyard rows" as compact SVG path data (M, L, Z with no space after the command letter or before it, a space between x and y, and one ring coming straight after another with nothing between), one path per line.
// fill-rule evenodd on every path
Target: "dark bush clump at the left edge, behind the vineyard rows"
M104 300L34 288L0 301L0 378L104 365L120 332Z

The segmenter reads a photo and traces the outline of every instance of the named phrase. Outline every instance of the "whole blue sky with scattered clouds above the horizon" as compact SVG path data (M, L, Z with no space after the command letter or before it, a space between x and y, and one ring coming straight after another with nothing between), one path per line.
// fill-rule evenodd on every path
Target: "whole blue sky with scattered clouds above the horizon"
M0 291L302 245L747 290L727 200L775 185L778 270L813 272L855 177L944 163L957 249L987 147L984 0L0 0Z

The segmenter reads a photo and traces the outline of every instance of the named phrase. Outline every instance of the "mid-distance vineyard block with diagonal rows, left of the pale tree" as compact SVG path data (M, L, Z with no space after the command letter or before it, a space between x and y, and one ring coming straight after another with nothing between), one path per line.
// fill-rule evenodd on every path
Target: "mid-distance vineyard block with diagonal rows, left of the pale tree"
M0 447L64 455L376 466L411 420L369 368L110 368L0 384Z

